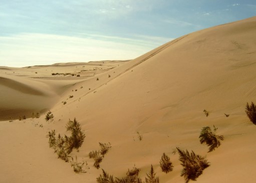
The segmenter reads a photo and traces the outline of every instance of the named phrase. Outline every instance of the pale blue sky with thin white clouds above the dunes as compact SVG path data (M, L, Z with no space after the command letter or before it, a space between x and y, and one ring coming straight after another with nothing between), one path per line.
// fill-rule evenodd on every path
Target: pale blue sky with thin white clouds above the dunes
M255 15L255 0L0 0L0 65L134 59Z

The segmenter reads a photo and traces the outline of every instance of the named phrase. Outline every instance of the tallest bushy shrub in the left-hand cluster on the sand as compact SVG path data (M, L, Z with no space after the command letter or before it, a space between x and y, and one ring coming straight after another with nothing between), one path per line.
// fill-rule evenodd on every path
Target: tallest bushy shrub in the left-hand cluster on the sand
M70 120L66 125L67 131L71 131L71 136L65 135L65 140L67 143L67 152L71 153L73 148L79 149L84 142L85 133L82 131L79 122L74 118L74 120Z

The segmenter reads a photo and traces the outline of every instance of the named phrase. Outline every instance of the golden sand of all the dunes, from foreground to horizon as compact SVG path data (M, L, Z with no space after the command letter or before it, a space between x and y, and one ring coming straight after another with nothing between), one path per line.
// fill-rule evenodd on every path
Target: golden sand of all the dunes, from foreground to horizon
M184 35L130 61L0 67L0 118L15 119L0 122L0 182L96 182L101 168L122 177L134 165L144 180L151 164L160 182L184 182L176 147L210 162L197 182L253 182L256 126L244 107L256 102L255 34L252 17ZM48 110L54 118L46 121ZM41 116L29 118L32 112ZM79 152L70 153L87 161L81 174L46 138L52 129L69 135L65 125L74 117L86 134ZM213 125L224 140L207 152L198 136ZM96 169L88 154L99 142L112 147ZM167 174L159 166L163 152L174 165Z

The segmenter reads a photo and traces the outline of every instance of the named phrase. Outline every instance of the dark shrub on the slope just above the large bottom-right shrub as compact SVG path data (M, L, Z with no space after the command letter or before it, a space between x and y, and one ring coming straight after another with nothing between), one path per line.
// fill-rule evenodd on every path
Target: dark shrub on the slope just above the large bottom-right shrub
M209 127L203 127L199 136L200 143L205 143L209 146L209 151L215 150L220 145L220 140L223 140L223 135L216 135L215 132L218 128L213 125L213 130Z

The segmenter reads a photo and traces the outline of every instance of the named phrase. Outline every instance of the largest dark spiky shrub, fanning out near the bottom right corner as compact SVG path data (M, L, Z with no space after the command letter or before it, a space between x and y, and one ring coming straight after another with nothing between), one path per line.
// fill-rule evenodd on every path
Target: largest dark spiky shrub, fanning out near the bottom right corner
M186 183L189 180L196 180L196 178L202 174L203 170L210 165L205 157L197 155L193 151L189 153L187 150L180 150L178 147L177 150L179 160L183 166L180 176L184 176Z

